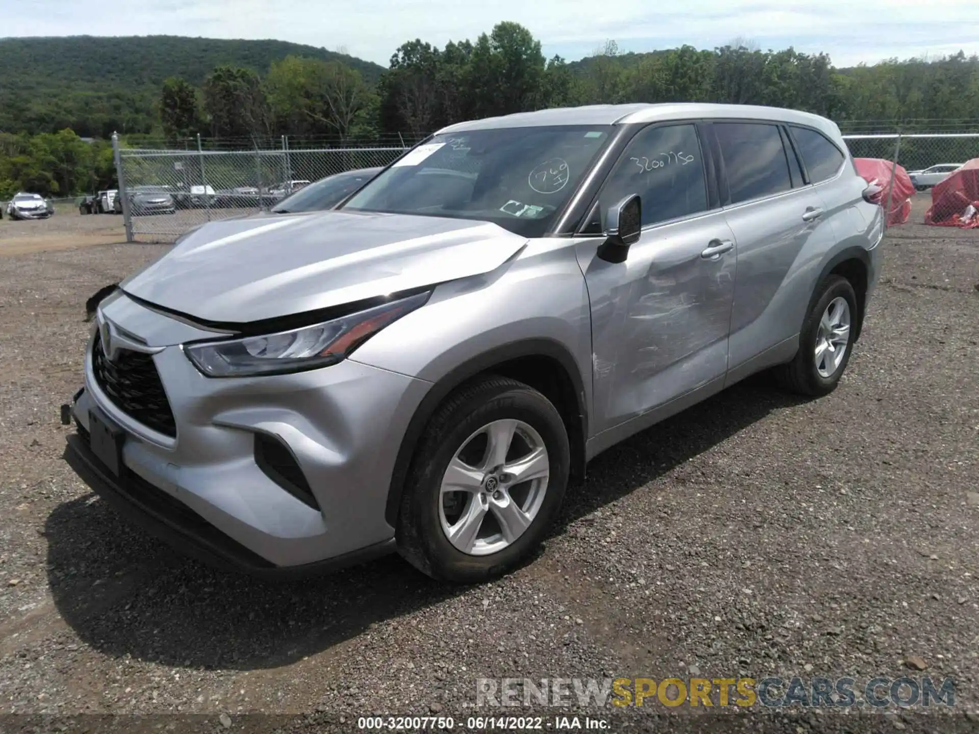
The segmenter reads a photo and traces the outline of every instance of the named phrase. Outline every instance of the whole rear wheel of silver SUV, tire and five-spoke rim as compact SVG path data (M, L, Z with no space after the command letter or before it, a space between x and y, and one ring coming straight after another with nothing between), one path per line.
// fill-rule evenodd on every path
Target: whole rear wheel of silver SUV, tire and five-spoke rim
M836 390L853 351L857 318L857 296L850 281L830 275L803 323L799 351L775 371L781 384L814 397Z

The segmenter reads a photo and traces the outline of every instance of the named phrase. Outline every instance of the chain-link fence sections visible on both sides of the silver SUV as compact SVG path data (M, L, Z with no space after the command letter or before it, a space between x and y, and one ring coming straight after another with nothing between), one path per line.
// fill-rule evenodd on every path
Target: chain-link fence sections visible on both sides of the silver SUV
M945 128L943 128L945 129ZM968 128L966 128L968 129ZM920 192L929 190L957 165L979 158L979 132L848 132L855 158L897 162L915 173ZM172 242L215 219L248 216L312 181L355 168L387 165L415 141L398 137L382 145L337 148L289 139L184 141L182 148L122 148L113 138L126 239Z

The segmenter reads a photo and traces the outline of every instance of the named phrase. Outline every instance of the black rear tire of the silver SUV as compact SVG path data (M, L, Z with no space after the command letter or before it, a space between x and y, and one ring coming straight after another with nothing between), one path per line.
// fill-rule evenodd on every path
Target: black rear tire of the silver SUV
M819 285L816 293L818 293L818 298L806 315L799 335L799 351L796 352L791 362L776 368L775 375L786 390L802 395L821 397L836 390L836 386L850 362L854 345L853 333L857 319L860 318L860 312L857 309L857 295L854 293L853 286L850 281L842 276L828 276ZM816 346L823 341L820 334L821 331L824 332L824 329L820 329L823 315L826 314L830 304L834 304L834 308L838 306L838 299L846 302L846 344L835 344L835 348L823 350L824 361L817 364ZM834 319L830 318L828 321L832 321L834 326L836 325ZM839 333L836 329L832 332L834 337ZM842 356L835 356L841 347L843 349ZM833 364L825 361L830 359L833 360ZM831 367L832 369L830 369Z

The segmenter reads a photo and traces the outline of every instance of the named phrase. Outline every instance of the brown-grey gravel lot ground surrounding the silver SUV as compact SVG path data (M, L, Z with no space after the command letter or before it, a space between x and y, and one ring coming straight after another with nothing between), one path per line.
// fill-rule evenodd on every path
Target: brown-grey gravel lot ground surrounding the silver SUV
M461 729L488 712L476 677L906 674L955 678L956 711L976 711L979 231L906 225L882 247L839 390L804 402L760 377L635 436L589 467L535 563L472 588L396 557L264 584L130 529L62 460L58 406L80 385L85 298L165 247L0 257L0 712L201 713L209 731L247 711L337 731L439 712ZM617 731L719 725L653 703L598 713ZM802 711L723 726L735 720L972 725Z

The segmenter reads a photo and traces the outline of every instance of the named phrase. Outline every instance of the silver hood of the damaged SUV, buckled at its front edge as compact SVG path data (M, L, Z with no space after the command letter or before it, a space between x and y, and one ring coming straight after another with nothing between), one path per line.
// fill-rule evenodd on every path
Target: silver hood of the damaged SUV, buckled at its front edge
M325 211L210 222L119 287L197 319L246 323L496 269L527 239L496 224Z

